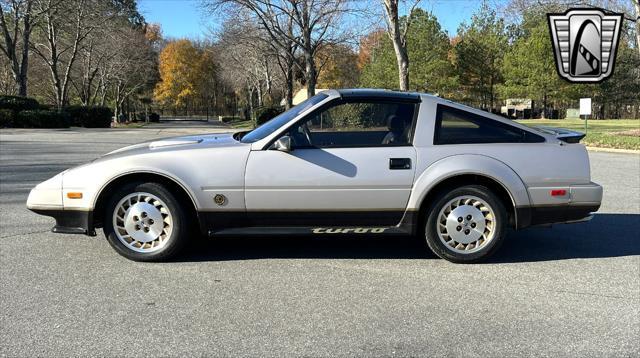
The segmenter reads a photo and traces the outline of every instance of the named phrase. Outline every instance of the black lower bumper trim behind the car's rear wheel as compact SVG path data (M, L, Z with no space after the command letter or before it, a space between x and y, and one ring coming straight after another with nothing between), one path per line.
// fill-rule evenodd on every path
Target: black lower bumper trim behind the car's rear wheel
M519 207L516 208L517 229L533 225L578 221L589 217L599 208L600 205L597 204Z

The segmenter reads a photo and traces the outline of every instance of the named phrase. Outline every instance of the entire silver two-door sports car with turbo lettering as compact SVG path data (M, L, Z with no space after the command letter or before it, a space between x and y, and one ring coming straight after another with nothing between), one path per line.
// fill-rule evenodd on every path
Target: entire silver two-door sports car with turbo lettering
M439 257L486 259L507 228L588 220L581 133L534 129L439 97L329 90L264 125L125 147L31 190L53 232L138 261L194 234L420 235Z

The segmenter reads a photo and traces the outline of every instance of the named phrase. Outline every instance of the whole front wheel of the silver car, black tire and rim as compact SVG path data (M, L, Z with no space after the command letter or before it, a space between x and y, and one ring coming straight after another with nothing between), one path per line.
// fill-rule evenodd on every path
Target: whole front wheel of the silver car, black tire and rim
M183 204L158 183L132 183L117 190L104 213L111 247L133 261L166 261L187 243Z

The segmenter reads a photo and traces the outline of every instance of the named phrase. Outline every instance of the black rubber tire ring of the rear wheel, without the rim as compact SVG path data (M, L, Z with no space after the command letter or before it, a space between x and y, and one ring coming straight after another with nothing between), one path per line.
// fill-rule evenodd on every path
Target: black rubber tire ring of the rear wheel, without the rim
M437 220L440 210L452 199L459 196L476 196L484 200L494 211L496 219L495 236L480 251L461 254L449 250L440 240L437 232ZM455 263L474 263L489 258L495 253L504 241L507 222L507 212L502 201L491 190L484 186L469 185L456 188L449 192L445 192L437 197L434 204L430 206L427 212L425 238L427 245L438 257Z

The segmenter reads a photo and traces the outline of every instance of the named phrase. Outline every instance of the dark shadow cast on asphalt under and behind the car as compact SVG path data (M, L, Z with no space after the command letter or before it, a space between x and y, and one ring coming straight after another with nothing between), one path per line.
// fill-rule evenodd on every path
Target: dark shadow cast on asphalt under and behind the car
M486 263L517 263L640 255L638 214L596 214L571 225L512 231ZM178 262L254 259L433 259L424 240L411 237L260 237L198 240Z

